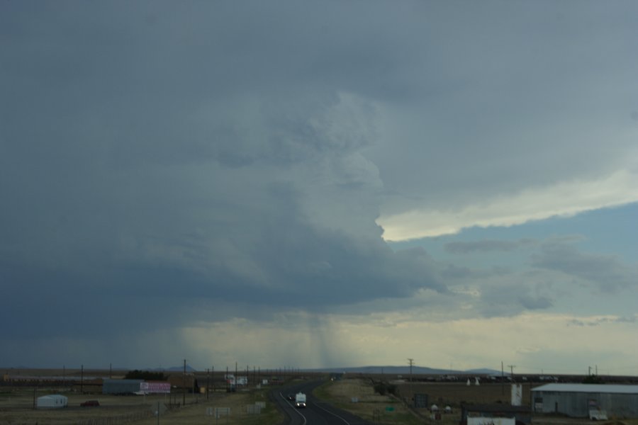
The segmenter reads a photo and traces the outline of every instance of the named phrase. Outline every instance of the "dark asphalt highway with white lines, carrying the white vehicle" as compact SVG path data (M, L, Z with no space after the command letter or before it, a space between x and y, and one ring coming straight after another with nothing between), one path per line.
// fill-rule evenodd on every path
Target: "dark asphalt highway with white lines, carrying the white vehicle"
M300 382L297 385L291 385L284 390L276 390L272 392L273 399L279 404L289 421L288 425L372 425L371 422L354 416L344 410L332 407L330 404L321 402L313 397L312 391L318 387L323 381ZM286 399L289 394L297 392L306 394L306 409L297 409L294 402Z

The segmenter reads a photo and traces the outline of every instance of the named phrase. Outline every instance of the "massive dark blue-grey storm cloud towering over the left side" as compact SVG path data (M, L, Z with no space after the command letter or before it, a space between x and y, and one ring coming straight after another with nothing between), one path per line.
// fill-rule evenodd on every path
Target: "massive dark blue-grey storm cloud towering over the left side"
M403 55L386 33L150 5L1 6L1 314L29 313L8 336L446 291L381 240L374 107L340 94L401 92L376 84Z

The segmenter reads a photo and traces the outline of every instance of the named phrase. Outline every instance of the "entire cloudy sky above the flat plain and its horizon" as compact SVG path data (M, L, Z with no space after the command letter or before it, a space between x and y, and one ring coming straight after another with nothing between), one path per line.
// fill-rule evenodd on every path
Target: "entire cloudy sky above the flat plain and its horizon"
M638 375L635 1L0 1L0 366Z

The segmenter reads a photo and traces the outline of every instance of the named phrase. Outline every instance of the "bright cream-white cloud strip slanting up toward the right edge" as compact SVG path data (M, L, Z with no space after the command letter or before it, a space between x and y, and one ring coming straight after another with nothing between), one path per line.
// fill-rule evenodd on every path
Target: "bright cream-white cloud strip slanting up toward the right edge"
M410 210L377 223L386 241L456 234L468 227L521 225L549 217L569 217L580 212L638 201L638 174L622 170L598 181L572 181L548 188L532 188L517 196L486 200L462 210Z

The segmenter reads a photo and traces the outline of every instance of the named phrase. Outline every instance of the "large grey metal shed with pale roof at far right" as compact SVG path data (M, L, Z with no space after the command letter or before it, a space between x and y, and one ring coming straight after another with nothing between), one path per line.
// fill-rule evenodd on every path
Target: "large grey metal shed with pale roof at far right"
M587 417L593 409L618 418L638 417L638 385L547 384L532 388L536 413Z

